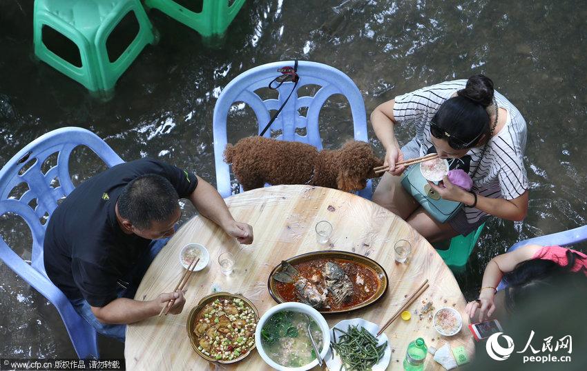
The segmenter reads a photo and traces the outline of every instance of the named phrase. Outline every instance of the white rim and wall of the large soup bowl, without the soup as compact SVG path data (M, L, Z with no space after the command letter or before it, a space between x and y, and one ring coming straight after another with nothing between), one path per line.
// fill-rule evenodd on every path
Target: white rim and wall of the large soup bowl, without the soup
M273 308L267 310L267 312L265 312L265 314L263 314L262 317L259 319L259 322L257 323L257 328L255 330L255 344L257 346L257 351L259 352L259 355L261 356L263 361L265 361L265 363L267 363L272 368L275 368L276 370L280 371L306 371L313 367L316 367L316 365L318 365L318 359L314 359L314 361L311 361L307 365L303 365L301 367L286 367L270 359L267 353L265 353L265 351L263 350L263 343L261 341L261 330L263 328L263 325L269 318L271 318L273 314L281 312L282 310L291 310L292 312L305 313L311 319L314 319L314 321L316 321L316 323L320 327L320 330L322 330L323 337L323 346L322 350L320 350L320 357L322 357L323 360L325 359L330 345L330 329L328 328L328 323L324 319L323 315L320 314L320 312L318 312L318 310L315 310L307 304L295 303L291 301L274 306Z

